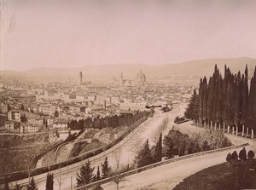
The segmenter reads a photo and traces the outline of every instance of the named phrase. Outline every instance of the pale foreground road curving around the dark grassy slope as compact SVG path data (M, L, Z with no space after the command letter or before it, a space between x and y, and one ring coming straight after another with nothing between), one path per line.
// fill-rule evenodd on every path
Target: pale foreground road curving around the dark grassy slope
M254 153L256 152L256 141L236 137L235 135L229 135L229 138L231 141L238 141L239 139L241 143L248 142L249 146L246 147L247 151L253 150ZM236 152L239 153L240 150L241 148L238 148ZM180 181L183 181L184 178L210 166L224 163L227 154L233 151L235 150L205 154L145 170L138 174L125 177L126 181L120 183L119 189L134 190L148 189L149 187L160 190L172 189L177 186ZM113 190L115 189L115 184L108 182L103 184L102 187L104 190Z

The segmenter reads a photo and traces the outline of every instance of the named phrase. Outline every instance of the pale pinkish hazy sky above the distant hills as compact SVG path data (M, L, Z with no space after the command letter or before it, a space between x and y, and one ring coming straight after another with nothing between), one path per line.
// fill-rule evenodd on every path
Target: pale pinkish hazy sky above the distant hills
M256 58L253 0L5 1L1 70Z

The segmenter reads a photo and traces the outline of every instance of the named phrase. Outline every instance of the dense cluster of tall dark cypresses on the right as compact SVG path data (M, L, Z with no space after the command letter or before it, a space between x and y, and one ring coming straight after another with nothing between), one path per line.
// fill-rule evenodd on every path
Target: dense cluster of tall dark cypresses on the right
M239 126L244 124L256 128L256 67L248 88L248 71L233 74L224 67L224 78L217 66L212 77L201 78L199 93L194 93L189 101L185 117L200 124L210 121L218 124Z

